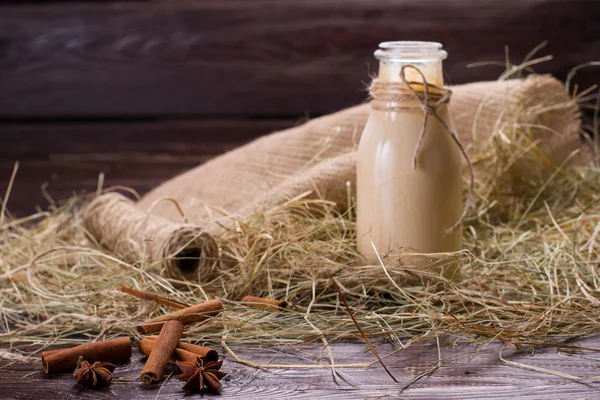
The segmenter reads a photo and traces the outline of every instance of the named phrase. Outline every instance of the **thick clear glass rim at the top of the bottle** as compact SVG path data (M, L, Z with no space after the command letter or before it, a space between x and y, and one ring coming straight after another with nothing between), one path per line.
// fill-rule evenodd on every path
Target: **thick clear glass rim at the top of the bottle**
M445 60L448 53L438 42L395 41L379 43L375 51L379 60L401 60L408 62L428 62Z

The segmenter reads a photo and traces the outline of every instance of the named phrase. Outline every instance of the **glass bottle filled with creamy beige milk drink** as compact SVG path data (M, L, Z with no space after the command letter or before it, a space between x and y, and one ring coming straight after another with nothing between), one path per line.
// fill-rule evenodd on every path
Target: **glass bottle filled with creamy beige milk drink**
M371 112L357 156L357 247L372 264L379 264L376 249L384 262L401 258L407 268L455 276L457 262L448 257L415 255L461 248L462 229L456 223L463 208L462 155L448 131L454 127L447 101L435 107L443 123L430 114L421 136L423 77L435 85L428 87L431 97L437 94L434 100L447 93L442 88L447 53L433 42L379 47L379 76L371 87ZM433 103L430 98L428 104Z

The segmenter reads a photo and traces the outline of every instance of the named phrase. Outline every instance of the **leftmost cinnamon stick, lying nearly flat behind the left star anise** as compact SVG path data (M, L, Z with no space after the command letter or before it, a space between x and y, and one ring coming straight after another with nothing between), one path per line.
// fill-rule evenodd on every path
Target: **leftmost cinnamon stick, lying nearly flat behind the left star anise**
M86 343L67 349L48 350L42 352L44 372L73 371L79 357L89 363L96 361L123 361L131 358L131 340L128 337L106 340L103 342Z

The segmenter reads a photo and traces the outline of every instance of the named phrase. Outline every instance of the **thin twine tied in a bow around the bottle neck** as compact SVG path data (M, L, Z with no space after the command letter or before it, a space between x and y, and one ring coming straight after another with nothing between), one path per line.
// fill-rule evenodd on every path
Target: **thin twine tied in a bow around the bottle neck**
M408 81L406 79L406 69L411 68L415 70L421 76L421 82L416 81ZM452 91L450 89L439 87L427 82L425 79L425 75L421 70L414 65L404 65L400 69L400 80L401 83L388 82L381 83L377 79L373 80L371 86L369 87L369 93L371 97L375 101L386 102L386 106L380 106L376 102L372 103L372 107L378 110L386 110L386 111L405 111L405 110L415 110L420 109L423 111L423 123L421 125L421 133L419 134L419 139L417 141L417 145L413 152L412 158L412 167L413 169L417 168L417 160L419 157L419 151L421 149L421 145L423 143L423 139L425 138L425 132L427 131L427 123L429 121L429 117L433 117L439 121L439 123L444 127L446 132L450 135L453 142L458 146L460 152L462 153L463 158L467 162L467 167L469 169L469 193L467 195L467 201L465 202L465 206L463 207L462 214L458 221L454 223L450 228L448 228L447 232L452 233L458 229L458 227L462 224L463 220L467 216L469 208L471 207L471 202L473 199L473 192L475 190L475 173L473 170L473 163L467 154L464 146L460 142L458 135L452 129L443 118L441 118L437 111L438 108L450 102L450 97L452 96ZM422 87L422 90L416 90L415 87ZM431 90L433 89L433 90ZM407 106L405 104L396 104L391 105L389 103L396 103L406 100L416 100L418 102L418 106Z

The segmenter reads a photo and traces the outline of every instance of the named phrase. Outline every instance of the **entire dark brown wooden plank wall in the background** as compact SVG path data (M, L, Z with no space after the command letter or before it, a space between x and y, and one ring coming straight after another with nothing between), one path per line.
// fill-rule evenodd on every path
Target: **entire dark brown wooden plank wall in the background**
M436 40L449 83L494 79L504 48L600 59L597 0L155 0L0 3L0 193L45 206L105 185L141 192L254 137L358 102L384 40ZM598 69L578 75L599 81Z

